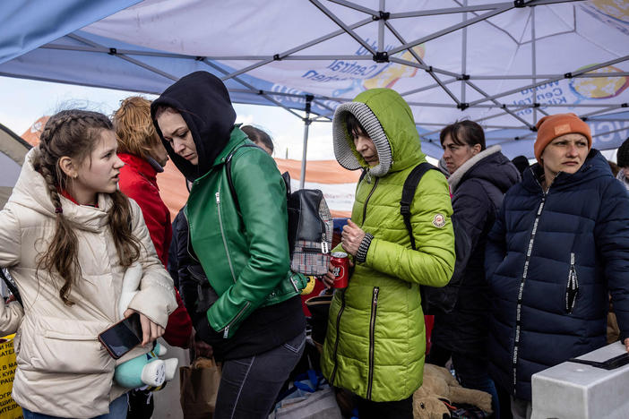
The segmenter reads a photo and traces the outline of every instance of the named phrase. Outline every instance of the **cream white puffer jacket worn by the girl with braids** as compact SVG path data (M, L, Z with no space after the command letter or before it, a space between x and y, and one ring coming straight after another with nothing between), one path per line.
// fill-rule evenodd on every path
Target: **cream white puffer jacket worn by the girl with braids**
M0 212L0 266L9 271L22 295L17 303L0 301L0 332L18 329L14 341L17 371L13 398L27 409L61 417L88 418L108 413L111 400L124 389L113 383L116 363L148 351L136 348L115 361L100 345L99 333L119 320L117 310L125 274L108 228L112 201L99 194L98 208L61 198L64 216L71 219L79 240L82 277L69 295L73 306L59 297L63 280L38 270L39 255L55 233L55 208L44 178L26 157L13 194ZM166 327L177 307L172 279L159 261L138 205L132 203L134 235L142 243L140 291L129 304Z

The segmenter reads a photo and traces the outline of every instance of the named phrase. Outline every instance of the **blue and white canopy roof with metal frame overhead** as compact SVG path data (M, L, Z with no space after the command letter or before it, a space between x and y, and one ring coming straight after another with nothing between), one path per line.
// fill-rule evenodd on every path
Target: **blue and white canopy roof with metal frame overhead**
M462 118L511 158L532 157L543 115L580 115L599 150L629 133L627 2L99 3L4 2L0 75L159 94L209 71L233 101L304 119L302 173L308 125L375 87L409 102L423 150L437 158L439 131Z

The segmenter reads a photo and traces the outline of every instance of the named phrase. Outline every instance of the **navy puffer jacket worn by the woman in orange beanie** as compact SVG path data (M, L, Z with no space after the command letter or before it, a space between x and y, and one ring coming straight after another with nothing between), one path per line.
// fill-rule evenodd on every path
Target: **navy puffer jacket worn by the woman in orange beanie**
M530 400L530 377L606 345L607 292L629 328L629 195L599 151L547 193L534 165L504 196L487 239L490 372ZM576 292L570 288L577 287Z

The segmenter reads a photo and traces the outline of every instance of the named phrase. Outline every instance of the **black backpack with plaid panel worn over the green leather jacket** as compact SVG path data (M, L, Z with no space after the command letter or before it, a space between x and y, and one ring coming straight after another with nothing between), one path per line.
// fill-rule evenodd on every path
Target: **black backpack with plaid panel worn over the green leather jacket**
M256 147L245 144L240 147ZM240 213L236 189L231 179L232 150L225 160L229 190ZM263 151L265 152L265 151ZM300 189L290 192L290 176L282 175L286 184L287 209L289 212L290 269L304 275L321 276L328 271L332 249L332 214L318 189Z

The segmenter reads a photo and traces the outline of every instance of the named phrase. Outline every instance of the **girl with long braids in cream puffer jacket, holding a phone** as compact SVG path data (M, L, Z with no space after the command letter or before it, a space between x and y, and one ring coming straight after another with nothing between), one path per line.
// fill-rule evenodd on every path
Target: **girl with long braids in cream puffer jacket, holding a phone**
M0 304L0 333L17 331L13 398L25 418L125 417L114 369L151 346L114 360L97 337L120 320L123 277L137 262L142 280L125 316L140 313L142 345L159 338L177 307L172 279L141 210L117 190L124 163L107 116L59 112L40 141L0 212L0 266L23 304Z

